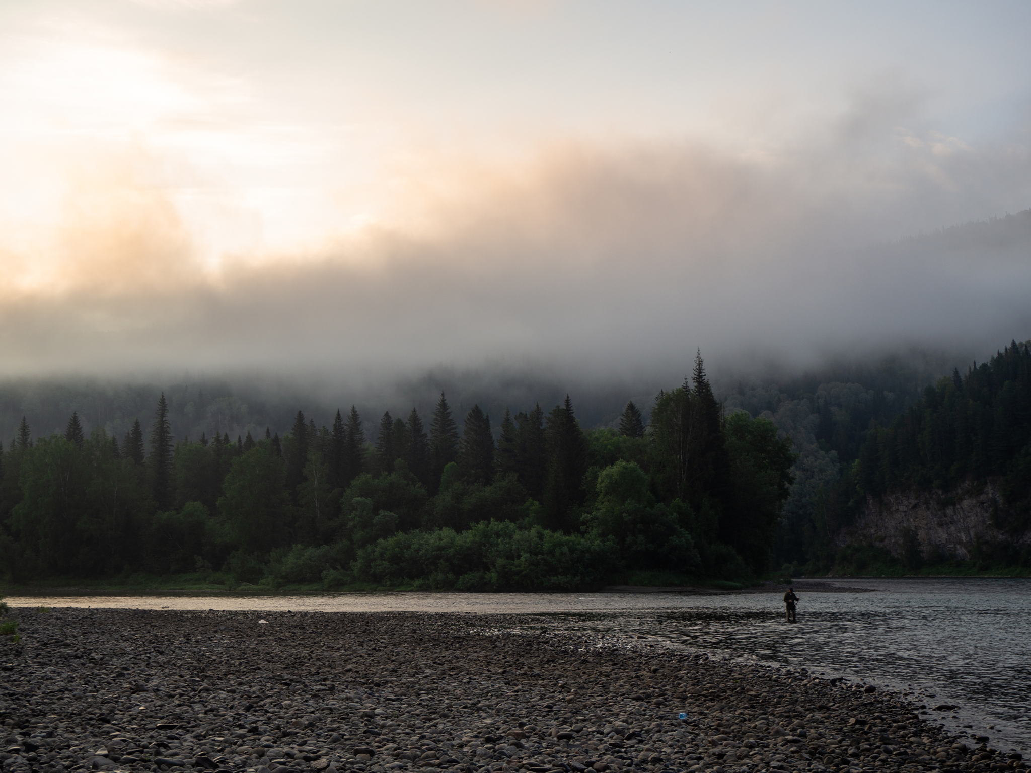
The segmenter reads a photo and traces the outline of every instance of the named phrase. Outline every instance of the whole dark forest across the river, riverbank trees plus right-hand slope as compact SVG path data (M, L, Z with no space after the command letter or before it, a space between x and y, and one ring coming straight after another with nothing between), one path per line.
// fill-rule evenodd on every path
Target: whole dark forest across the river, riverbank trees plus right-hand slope
M0 571L230 587L743 582L840 569L833 536L892 492L989 481L1012 539L977 559L1031 569L1029 344L962 373L935 377L937 365L895 359L718 398L699 357L678 388L587 429L568 396L492 417L457 414L443 393L426 415L350 406L319 426L298 410L281 437L174 438L164 395L119 437L86 432L75 411L48 437L23 418L0 452Z

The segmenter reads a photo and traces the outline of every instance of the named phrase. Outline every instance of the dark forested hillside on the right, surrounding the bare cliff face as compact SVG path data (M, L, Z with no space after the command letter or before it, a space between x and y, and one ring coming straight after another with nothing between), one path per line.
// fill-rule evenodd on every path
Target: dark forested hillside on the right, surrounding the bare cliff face
M831 382L797 400L783 395L775 411L761 414L793 437L800 453L777 561L810 572L863 571L876 561L885 568L887 554L867 551L857 559L857 550L871 546L836 545L866 509L889 494L933 494L943 516L961 493L973 496L992 482L1000 496L986 515L993 531L1006 536L976 544L974 563L986 570L1031 570L1031 545L1022 541L1031 528L1029 347L1031 342L1013 341L987 363L964 373L954 369L919 392L911 378L895 372L880 375L882 384L897 384L894 393ZM942 571L975 568L959 566L969 562L957 562L943 546L921 544L919 535L905 537L905 556L894 559L906 571L928 563Z

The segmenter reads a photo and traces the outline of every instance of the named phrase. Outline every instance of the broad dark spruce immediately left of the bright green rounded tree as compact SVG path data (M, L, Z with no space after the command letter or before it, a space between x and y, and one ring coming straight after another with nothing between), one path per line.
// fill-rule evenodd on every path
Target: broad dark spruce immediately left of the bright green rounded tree
M547 483L544 488L544 515L550 529L571 531L575 509L584 504L584 474L587 472L587 440L566 395L547 416Z

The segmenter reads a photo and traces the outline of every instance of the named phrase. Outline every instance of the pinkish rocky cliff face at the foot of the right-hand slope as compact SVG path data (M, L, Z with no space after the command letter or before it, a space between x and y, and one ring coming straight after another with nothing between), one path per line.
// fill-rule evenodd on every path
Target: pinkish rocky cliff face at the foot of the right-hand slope
M901 558L914 546L925 558L945 553L969 559L975 542L1013 541L1031 544L1031 531L1015 539L995 524L1002 499L993 483L966 486L952 495L940 492L891 494L882 501L867 500L862 515L843 529L835 544L869 544Z

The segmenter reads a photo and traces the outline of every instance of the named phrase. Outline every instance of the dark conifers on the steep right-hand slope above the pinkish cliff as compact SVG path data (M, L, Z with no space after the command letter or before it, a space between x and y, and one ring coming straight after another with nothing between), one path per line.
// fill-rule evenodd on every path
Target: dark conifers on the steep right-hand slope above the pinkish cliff
M813 496L811 519L796 538L814 569L834 563L830 537L847 526L869 498L892 492L997 484L993 519L1015 539L1031 528L1031 342L1012 341L987 363L973 365L923 391L920 400L885 425L871 422L857 458ZM1031 565L1016 543L985 545L986 560ZM942 557L944 558L944 557ZM913 544L905 561L923 561Z

